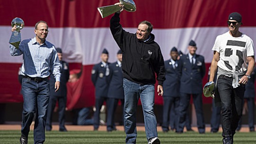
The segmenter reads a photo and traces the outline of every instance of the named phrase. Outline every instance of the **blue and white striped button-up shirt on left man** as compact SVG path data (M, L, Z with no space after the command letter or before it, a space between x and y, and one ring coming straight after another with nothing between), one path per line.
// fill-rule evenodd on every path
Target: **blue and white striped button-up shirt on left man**
M51 72L55 81L60 81L60 61L55 46L48 41L40 45L36 37L23 40L17 49L10 45L10 54L18 56L23 54L21 74L29 77L46 78Z

